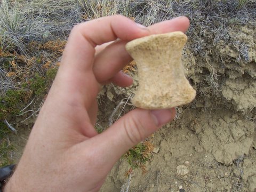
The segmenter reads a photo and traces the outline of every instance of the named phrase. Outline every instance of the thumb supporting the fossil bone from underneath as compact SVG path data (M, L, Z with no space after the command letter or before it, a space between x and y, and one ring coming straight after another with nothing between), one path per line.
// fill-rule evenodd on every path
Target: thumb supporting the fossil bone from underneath
M105 151L111 155L113 160L117 161L127 150L146 139L174 117L174 108L135 109L118 119L109 129L98 136L105 140L106 144L108 143L108 150Z

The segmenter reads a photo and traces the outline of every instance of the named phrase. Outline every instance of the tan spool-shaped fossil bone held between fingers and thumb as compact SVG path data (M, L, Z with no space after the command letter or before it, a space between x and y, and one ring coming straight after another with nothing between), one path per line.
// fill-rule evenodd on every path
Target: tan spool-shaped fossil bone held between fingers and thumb
M150 35L126 44L137 62L139 87L132 103L144 109L167 109L191 102L196 91L181 61L187 36L180 31Z

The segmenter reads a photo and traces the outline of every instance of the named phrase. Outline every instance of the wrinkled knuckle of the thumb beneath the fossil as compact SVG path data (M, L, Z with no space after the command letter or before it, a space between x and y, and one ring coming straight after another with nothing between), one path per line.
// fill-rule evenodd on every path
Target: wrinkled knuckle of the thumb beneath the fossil
M133 145L143 140L142 132L145 127L143 127L140 119L134 115L131 115L130 118L125 119L124 129L127 134L127 138L133 143Z

